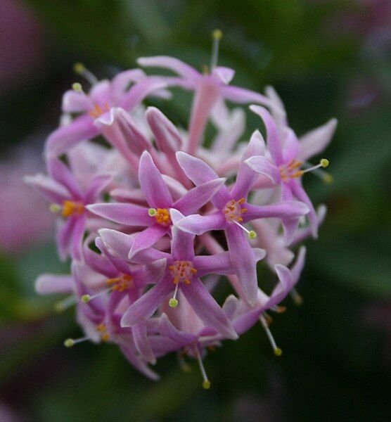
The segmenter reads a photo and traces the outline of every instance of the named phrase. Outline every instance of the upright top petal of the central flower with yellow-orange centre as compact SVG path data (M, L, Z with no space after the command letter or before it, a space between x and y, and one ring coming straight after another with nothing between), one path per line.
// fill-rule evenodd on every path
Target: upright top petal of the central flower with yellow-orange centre
M151 207L169 208L172 206L171 193L147 151L144 151L140 158L139 179L141 189Z

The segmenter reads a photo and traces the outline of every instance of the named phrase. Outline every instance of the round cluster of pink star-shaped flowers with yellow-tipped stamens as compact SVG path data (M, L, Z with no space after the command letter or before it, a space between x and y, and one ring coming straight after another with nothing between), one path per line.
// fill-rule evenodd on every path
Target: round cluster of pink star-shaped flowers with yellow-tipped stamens
M65 92L65 124L46 143L48 175L26 178L58 212L58 253L72 260L71 275L44 274L36 284L41 294L69 295L59 308L77 307L84 337L65 345L115 343L153 379L149 365L177 351L181 361L198 360L204 388L207 350L257 321L281 354L267 311L282 312L288 293L300 298L294 286L305 247L297 245L317 236L326 213L323 205L314 209L302 176L327 179L319 168L327 160L307 160L336 126L330 120L297 138L274 89L262 95L234 87L233 70L216 61L200 73L176 58L140 58L143 67L176 75L134 69L112 81L77 65L91 89L74 84ZM170 87L194 92L188 130L142 105L146 96L171 98ZM252 104L267 143L259 130L238 142L245 113L226 101ZM205 139L208 123L213 139ZM257 279L264 259L276 276L270 294ZM222 306L213 297L217 283L233 291Z

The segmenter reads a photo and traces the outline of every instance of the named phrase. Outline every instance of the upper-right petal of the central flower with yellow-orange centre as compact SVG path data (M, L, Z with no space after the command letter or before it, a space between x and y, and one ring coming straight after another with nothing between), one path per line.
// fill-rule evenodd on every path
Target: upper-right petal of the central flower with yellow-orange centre
M217 191L224 186L225 181L225 178L220 178L200 184L177 200L173 207L184 215L196 212L212 199Z

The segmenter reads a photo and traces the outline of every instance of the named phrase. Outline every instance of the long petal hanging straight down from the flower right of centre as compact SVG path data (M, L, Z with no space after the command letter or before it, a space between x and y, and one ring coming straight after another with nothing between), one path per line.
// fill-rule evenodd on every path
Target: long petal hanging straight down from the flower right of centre
M238 280L250 305L257 301L257 260L243 230L229 224L225 230L231 262L236 269Z

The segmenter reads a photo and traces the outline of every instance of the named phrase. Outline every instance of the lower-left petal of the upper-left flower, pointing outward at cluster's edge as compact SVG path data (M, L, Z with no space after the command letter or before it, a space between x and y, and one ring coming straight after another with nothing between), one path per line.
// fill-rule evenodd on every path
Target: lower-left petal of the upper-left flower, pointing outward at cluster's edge
M81 141L94 138L99 129L89 115L82 115L67 126L56 129L46 141L46 156L61 155Z

